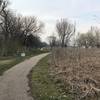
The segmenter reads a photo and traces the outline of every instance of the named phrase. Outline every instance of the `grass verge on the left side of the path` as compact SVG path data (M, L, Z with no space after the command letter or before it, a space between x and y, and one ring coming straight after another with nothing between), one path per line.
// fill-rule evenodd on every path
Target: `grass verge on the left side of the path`
M0 57L0 75L2 75L6 70L10 69L14 65L28 59L32 56L36 56L42 53L47 53L48 51L33 50L31 53L27 53L25 57Z

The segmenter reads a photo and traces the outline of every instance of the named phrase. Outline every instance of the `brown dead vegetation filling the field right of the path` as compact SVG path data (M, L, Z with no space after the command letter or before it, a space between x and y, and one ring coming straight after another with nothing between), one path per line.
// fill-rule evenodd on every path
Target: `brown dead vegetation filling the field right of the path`
M51 64L52 75L74 100L100 99L99 49L54 49Z

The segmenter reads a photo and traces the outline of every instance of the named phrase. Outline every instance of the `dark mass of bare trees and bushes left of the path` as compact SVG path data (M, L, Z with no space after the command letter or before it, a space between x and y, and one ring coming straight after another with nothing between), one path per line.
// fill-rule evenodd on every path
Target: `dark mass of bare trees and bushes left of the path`
M18 16L8 5L8 1L0 0L0 55L13 55L43 46L38 34L44 24L35 16Z

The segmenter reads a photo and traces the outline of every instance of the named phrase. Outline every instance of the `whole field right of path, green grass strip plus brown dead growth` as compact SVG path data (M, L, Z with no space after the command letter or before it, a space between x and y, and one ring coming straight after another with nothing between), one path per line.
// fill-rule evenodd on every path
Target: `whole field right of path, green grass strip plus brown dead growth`
M29 75L36 100L99 100L100 50L57 48Z

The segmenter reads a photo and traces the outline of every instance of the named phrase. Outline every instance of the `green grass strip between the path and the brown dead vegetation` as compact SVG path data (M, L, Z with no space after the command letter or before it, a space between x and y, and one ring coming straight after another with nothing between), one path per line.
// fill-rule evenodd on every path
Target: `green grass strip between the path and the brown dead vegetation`
M50 76L48 59L49 56L40 60L29 74L29 85L33 98L35 100L71 100L69 96L61 92L61 88Z

